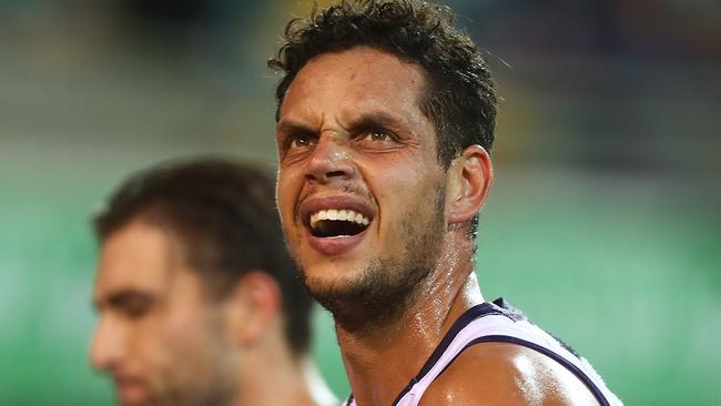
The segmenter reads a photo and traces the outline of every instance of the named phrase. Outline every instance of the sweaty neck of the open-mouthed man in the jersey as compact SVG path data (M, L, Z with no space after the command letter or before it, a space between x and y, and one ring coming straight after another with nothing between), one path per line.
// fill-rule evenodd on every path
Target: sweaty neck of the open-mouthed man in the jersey
M390 405L420 371L453 323L483 303L473 261L454 262L433 272L403 314L373 331L336 333L358 405ZM388 359L393 359L389 363Z

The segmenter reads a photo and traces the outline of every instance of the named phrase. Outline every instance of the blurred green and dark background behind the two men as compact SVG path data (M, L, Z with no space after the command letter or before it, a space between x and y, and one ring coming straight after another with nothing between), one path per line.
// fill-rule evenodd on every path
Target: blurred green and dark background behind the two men
M321 2L324 3L324 2ZM448 1L504 98L478 276L629 405L721 405L721 6ZM275 165L264 68L308 3L0 0L0 405L111 405L89 219L132 171ZM348 390L329 316L314 354Z

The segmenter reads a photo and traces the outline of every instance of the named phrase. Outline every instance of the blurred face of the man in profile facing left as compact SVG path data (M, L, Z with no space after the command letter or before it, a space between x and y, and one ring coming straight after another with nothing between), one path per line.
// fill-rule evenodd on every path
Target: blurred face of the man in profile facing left
M232 393L237 359L222 306L204 295L161 229L134 221L103 242L90 358L111 375L121 404L219 404Z

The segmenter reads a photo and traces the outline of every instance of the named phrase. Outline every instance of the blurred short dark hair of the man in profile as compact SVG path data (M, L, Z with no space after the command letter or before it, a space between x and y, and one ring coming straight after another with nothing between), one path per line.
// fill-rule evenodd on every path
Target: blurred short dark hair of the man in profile
M280 285L285 335L308 349L312 300L285 248L275 183L260 169L220 159L170 161L128 179L94 219L102 243L134 220L176 237L211 300L226 297L251 270Z

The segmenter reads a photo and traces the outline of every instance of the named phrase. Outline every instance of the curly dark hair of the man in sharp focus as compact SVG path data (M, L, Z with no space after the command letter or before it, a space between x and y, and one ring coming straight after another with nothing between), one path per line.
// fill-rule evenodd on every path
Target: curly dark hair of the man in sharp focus
M420 110L438 136L438 162L450 161L469 145L490 152L497 98L490 71L473 40L453 26L447 7L413 0L342 0L285 29L285 44L268 67L284 77L276 89L276 121L285 93L313 58L365 45L390 52L424 68L426 91Z

